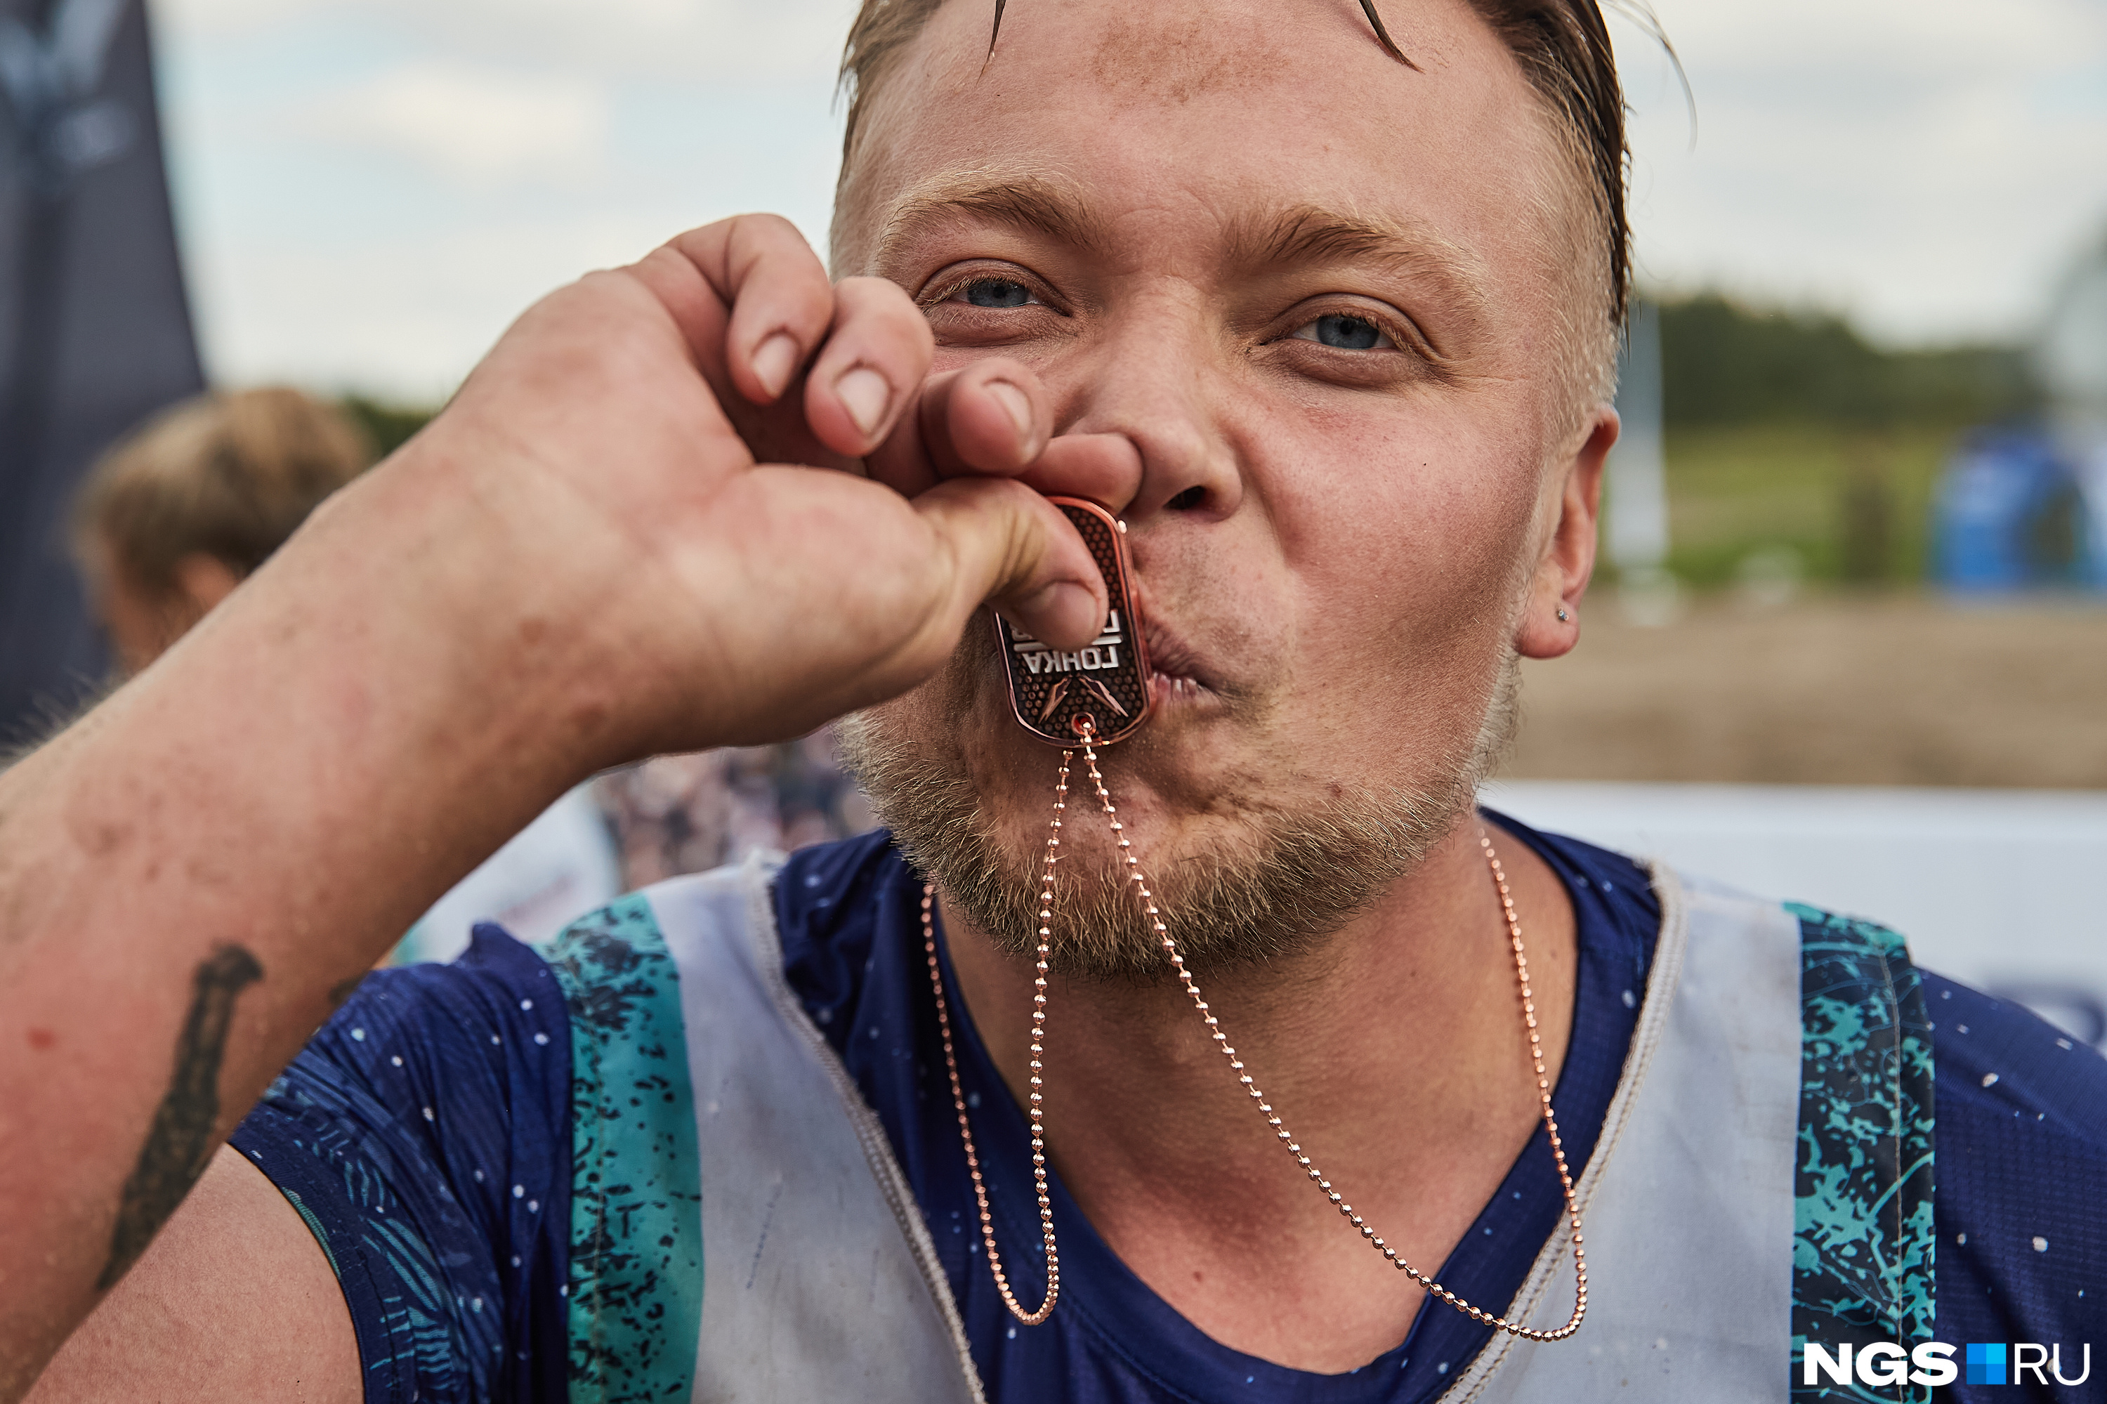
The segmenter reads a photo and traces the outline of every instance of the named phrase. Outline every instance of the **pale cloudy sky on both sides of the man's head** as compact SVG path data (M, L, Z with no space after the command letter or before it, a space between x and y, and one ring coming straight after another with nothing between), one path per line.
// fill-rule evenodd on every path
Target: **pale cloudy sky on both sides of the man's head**
M853 0L150 4L219 384L430 403L537 295L683 228L769 209L824 242ZM1654 13L1694 110L1616 19L1641 287L2021 339L2107 238L2107 0Z

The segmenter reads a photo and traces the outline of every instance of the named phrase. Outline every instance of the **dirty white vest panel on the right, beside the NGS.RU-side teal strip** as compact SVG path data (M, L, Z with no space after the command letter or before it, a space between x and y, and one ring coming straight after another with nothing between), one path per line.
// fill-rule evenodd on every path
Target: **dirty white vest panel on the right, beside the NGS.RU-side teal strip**
M1589 1313L1570 1341L1498 1337L1441 1404L1785 1400L1793 1366L1799 921L1654 864L1660 940L1578 1197ZM1572 1233L1519 1315L1572 1311Z

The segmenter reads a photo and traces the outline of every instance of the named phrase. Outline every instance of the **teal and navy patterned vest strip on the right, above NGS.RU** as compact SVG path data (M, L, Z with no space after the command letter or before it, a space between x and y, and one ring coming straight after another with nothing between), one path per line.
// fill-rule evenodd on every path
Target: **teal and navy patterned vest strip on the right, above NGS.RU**
M1932 1029L1894 932L1799 919L1793 1400L1928 1404L1924 1385L1804 1385L1801 1347L1932 1339Z

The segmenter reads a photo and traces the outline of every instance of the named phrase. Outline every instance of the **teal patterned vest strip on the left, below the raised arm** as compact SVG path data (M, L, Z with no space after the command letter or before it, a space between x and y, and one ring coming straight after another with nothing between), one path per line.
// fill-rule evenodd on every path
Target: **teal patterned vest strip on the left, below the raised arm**
M571 1400L685 1400L702 1328L702 1185L681 982L651 902L550 953L571 1006Z

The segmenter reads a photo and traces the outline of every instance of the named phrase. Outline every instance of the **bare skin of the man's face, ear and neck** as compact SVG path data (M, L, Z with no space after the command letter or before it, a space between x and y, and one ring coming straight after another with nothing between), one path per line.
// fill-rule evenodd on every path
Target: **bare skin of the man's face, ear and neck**
M1205 683L1106 753L1157 873L1342 786L1441 793L1509 649L1576 639L1555 609L1587 586L1616 436L1606 407L1557 401L1559 299L1597 291L1559 270L1561 232L1530 211L1557 204L1542 181L1580 177L1496 36L1456 0L1393 0L1412 72L1353 6L1294 23L1262 0L1165 11L1013 4L986 61L986 13L944 6L872 97L834 249L836 272L923 301L940 371L1009 356L1049 392L1056 432L1129 445L1089 489L1079 470L1032 481L1125 516L1142 611ZM1079 192L1089 242L980 211L898 223L914 192L976 173ZM1412 257L1239 257L1241 232L1294 207L1401 228ZM1426 272L1437 257L1460 282ZM1039 306L946 293L973 274ZM1361 360L1298 339L1327 312L1397 337ZM1426 354L1407 348L1420 333ZM961 774L1007 866L1035 871L1054 753L1009 721L984 637L874 727ZM1066 883L1110 871L1087 788L1070 788L1064 854ZM1502 856L1555 1077L1572 911L1519 845ZM1030 972L954 906L946 921L961 993L1022 1094ZM1460 824L1321 949L1214 974L1207 995L1325 1170L1435 1267L1538 1126L1513 978ZM1064 980L1054 1001L1051 1155L1144 1282L1218 1341L1298 1368L1348 1370L1403 1339L1418 1288L1294 1172L1176 991Z

